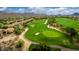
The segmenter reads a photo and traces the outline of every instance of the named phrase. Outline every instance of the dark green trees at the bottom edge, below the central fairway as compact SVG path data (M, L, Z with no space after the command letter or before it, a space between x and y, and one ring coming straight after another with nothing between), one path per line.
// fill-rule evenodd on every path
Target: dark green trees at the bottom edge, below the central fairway
M60 51L59 48L52 48L42 44L32 44L29 48L30 51Z

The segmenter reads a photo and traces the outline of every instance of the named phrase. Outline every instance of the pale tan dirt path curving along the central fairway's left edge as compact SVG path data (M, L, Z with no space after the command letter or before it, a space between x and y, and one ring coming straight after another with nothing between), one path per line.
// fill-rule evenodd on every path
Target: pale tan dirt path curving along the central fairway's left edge
M29 46L31 45L31 41L30 40L26 40L24 38L24 34L27 32L28 28L25 29L25 31L23 31L20 35L19 35L19 39L22 39L25 43L24 43L24 47L23 47L23 51L28 50Z

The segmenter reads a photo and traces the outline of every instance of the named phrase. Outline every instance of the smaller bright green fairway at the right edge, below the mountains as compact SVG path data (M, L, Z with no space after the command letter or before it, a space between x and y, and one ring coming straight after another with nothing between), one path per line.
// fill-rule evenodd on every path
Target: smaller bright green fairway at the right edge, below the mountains
M69 18L56 18L56 23L64 27L79 29L79 21L74 21Z

